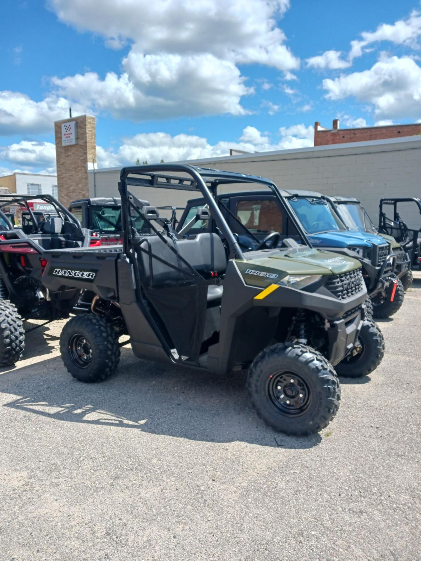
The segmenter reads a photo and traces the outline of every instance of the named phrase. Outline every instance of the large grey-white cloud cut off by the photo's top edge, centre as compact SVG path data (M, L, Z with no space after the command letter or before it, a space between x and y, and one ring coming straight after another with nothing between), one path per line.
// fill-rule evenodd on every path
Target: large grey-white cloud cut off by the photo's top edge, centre
M126 40L143 53L212 53L238 62L262 62L281 70L298 60L280 48L285 35L276 18L289 0L49 0L58 18L111 40Z

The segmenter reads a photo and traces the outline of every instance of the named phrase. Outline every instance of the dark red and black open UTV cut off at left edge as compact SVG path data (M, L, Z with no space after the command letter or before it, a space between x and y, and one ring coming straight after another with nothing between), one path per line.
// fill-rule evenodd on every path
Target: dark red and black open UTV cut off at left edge
M53 211L34 211L31 201L40 199ZM14 215L3 212L10 206L24 209L19 224L13 224ZM89 232L51 195L0 195L0 366L15 364L24 351L22 320L44 319L45 325L68 318L79 297L74 291L48 292L40 279L46 264L42 253L88 246L89 240Z

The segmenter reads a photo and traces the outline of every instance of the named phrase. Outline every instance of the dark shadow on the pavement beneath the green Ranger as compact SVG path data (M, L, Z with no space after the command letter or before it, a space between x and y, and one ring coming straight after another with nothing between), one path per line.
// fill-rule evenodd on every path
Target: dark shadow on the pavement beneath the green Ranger
M291 449L321 442L319 434L296 438L264 425L251 407L244 374L220 378L138 360L127 348L117 375L103 383L76 381L55 357L4 373L0 392L20 396L4 407L58 421Z

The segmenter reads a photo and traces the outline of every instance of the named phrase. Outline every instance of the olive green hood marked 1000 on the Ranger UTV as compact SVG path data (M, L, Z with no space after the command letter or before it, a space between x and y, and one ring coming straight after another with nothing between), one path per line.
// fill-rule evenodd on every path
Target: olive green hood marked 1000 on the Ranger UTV
M337 275L359 269L361 266L360 262L352 257L315 249L274 250L267 256L248 261L236 260L235 263L247 284L262 287L271 282L278 282L286 275ZM246 273L247 270L253 270L253 273ZM261 272L262 276L258 276L256 272Z

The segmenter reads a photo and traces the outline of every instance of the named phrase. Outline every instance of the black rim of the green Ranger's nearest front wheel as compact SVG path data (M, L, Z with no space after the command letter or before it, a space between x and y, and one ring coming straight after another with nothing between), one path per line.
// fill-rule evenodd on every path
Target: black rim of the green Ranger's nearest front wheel
M266 391L272 406L287 417L303 415L312 401L306 381L292 372L278 372L269 376Z

